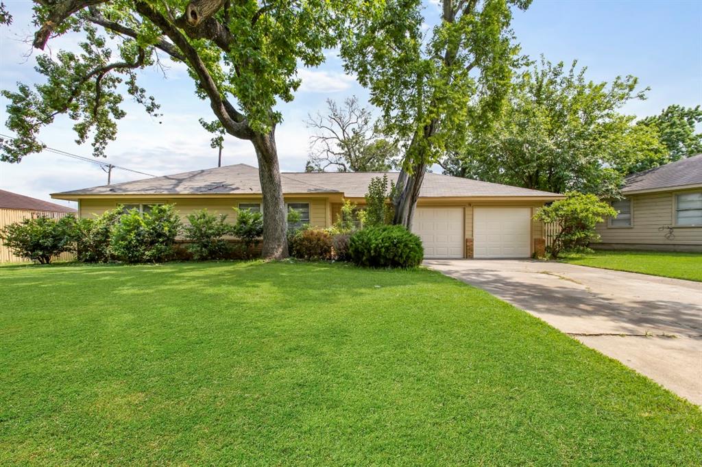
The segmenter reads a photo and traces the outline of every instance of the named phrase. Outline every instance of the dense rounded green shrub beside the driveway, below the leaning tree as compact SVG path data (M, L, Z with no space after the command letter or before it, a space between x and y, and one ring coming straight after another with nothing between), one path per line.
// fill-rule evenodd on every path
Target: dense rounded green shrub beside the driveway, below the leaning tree
M359 266L413 268L424 257L422 241L401 225L368 227L349 241L351 261Z

